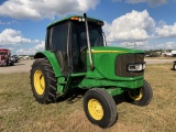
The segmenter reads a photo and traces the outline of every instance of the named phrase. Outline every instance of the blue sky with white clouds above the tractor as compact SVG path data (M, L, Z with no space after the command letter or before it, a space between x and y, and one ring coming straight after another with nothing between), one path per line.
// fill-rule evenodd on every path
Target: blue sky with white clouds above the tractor
M50 23L84 13L105 21L109 46L176 50L176 0L0 0L0 48L34 55Z

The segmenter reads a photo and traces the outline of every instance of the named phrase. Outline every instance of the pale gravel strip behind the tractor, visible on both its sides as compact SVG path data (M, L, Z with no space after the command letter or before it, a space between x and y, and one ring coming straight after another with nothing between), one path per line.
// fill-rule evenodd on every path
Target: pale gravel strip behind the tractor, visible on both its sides
M174 61L176 59L145 59L146 64L173 64ZM32 63L33 61L31 59L20 61L19 63L15 63L14 66L0 67L0 74L30 73Z

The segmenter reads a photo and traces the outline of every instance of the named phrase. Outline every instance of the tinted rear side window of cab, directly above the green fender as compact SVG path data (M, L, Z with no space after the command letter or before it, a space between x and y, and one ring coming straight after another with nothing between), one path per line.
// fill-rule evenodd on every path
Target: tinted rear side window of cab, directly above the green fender
M46 50L55 53L64 76L72 74L69 59L69 21L55 24L47 29ZM68 50L68 51L67 51Z

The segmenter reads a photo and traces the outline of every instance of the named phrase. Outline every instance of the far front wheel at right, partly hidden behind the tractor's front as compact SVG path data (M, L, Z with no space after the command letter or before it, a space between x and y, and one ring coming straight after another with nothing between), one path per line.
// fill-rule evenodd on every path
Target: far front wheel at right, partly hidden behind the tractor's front
M138 89L132 89L124 92L124 98L128 102L138 106L147 106L153 97L151 85L144 80L144 86Z

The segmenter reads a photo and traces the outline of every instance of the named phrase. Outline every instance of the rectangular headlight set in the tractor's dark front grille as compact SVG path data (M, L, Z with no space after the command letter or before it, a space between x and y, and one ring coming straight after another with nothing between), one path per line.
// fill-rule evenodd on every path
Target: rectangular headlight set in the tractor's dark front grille
M129 64L129 72L141 72L145 69L145 63Z

